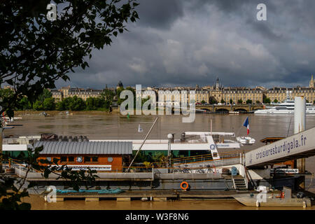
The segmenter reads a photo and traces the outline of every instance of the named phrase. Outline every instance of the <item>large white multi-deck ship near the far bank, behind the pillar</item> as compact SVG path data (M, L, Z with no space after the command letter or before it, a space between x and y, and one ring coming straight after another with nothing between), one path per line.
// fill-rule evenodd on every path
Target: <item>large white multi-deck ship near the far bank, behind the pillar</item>
M273 106L269 109L258 110L255 114L294 114L294 100L286 99L281 104ZM306 104L306 114L315 114L315 106L313 104Z

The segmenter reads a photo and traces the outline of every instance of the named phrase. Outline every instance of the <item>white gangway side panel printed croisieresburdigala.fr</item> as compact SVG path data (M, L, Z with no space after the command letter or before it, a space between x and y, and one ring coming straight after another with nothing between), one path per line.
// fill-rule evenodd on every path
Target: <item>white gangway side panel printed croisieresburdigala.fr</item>
M315 155L315 127L245 154L246 167L262 167Z

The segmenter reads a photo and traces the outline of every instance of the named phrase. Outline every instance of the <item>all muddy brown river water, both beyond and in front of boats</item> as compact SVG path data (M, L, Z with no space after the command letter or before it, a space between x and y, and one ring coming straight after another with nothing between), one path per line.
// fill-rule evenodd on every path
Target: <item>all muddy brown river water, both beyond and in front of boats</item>
M221 115L221 114L196 114L194 123L182 123L183 116L160 116L158 123L148 139L167 139L167 134L174 133L175 138L181 137L181 132L187 131L210 131L212 120L213 132L235 132L237 136L246 135L246 127L242 124L248 116L250 133L249 136L256 140L253 146L244 146L241 151L264 146L259 140L265 137L286 137L293 134L294 116L290 115ZM5 135L38 135L42 133L55 133L66 136L87 136L88 139L144 139L150 129L155 116L121 116L118 114L108 115L107 113L78 113L73 116L22 116L22 120L16 120L12 130L6 130ZM138 132L141 125L144 132ZM307 116L306 128L315 127L315 116ZM233 151L231 149L221 152ZM220 151L219 151L220 153ZM306 159L307 171L315 172L315 157ZM315 181L307 178L306 188L315 192ZM65 201L57 203L44 202L43 198L32 195L25 199L30 201L32 209L257 209L244 207L236 201L174 201L174 202L116 202L116 201ZM279 208L260 208L279 209ZM283 208L288 209L288 208ZM302 208L293 208L302 209ZM315 207L307 208L315 209Z

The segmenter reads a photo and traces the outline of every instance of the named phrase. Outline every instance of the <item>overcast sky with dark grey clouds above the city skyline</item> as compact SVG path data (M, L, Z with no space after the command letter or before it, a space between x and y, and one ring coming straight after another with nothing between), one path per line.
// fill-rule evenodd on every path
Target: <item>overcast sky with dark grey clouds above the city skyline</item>
M90 68L57 87L308 86L315 74L314 0L140 0L127 25ZM258 21L258 3L267 21Z

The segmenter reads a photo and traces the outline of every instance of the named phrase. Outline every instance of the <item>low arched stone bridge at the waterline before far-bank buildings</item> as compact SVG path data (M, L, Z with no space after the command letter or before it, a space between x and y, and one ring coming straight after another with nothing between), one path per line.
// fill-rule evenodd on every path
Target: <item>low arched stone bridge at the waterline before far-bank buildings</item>
M236 105L196 105L196 109L204 110L207 112L222 112L228 113L230 111L239 111L239 112L250 112L256 111L258 109L263 109L261 104L236 104Z

